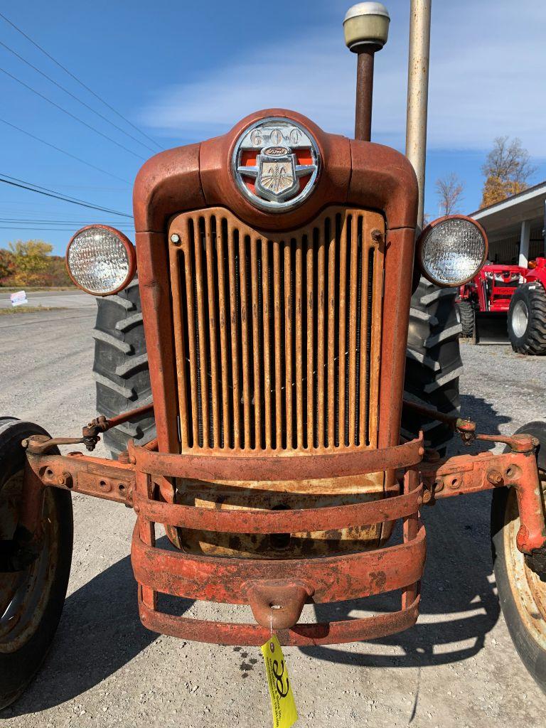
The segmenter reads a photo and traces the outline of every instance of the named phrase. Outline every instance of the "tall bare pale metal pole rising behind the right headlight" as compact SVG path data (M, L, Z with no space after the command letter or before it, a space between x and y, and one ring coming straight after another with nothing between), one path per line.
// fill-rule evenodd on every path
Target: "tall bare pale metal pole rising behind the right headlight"
M432 0L411 0L408 58L408 113L405 122L405 156L419 182L417 226L423 226L424 167L427 156L427 106L429 95L430 15Z

